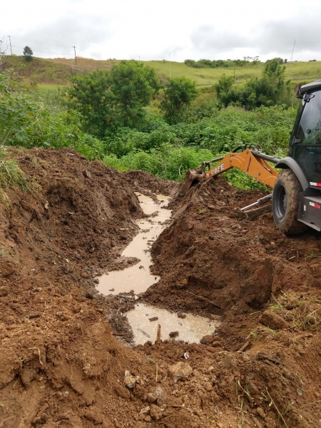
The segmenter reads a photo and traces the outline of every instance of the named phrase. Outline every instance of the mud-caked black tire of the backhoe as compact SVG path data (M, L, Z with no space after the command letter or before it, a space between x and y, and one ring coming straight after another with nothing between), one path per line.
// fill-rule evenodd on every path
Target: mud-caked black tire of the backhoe
M295 173L284 169L277 175L272 195L272 213L275 225L286 235L305 232L308 226L297 220L302 185Z

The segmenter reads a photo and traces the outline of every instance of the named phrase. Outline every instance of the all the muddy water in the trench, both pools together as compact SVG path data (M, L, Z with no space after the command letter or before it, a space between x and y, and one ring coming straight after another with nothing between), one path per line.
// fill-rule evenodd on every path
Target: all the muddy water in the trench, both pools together
M146 195L141 195L141 193L136 193L136 195L143 212L153 216L148 219L137 220L141 232L133 238L121 255L136 257L141 261L124 270L112 271L108 275L101 276L98 291L104 295L117 295L131 290L138 294L145 292L148 287L159 280L159 277L151 275L149 270L151 265L150 248L153 241L165 228L166 220L170 219L171 211L165 208L168 204L168 197L157 195L158 200L161 201L158 205ZM135 309L126 313L126 316L133 330L133 341L136 345L142 345L148 340L154 342L158 324L161 325L163 340L169 339L170 332L178 332L176 339L184 342L199 342L203 336L212 335L215 327L219 324L218 321L195 317L190 314L186 314L185 318L178 318L175 313L143 303L136 305Z

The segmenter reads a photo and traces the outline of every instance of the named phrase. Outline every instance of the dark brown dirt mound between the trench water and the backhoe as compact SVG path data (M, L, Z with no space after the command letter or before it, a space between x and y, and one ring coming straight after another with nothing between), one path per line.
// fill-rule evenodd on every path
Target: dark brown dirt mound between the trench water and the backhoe
M162 279L144 298L172 310L233 316L262 308L288 287L320 287L317 272L306 269L309 255L320 253L316 233L287 238L271 213L249 220L240 212L262 196L223 177L192 188L153 244L153 272ZM168 295L175 298L168 302Z

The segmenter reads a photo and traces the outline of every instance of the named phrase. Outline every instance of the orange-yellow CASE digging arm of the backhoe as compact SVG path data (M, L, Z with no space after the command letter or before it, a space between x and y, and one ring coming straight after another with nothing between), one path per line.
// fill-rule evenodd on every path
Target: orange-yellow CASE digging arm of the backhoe
M231 168L238 168L260 181L260 183L273 188L278 174L277 171L267 163L267 161L276 163L278 159L264 155L259 151L251 150L250 148L245 148L242 153L236 153L236 150L237 149L232 153L228 153L227 155L213 159L212 161L203 162L198 169L186 171L186 187L189 189L203 178L214 177L215 175L225 173L225 171L228 171ZM210 164L217 161L220 161L220 163L211 168ZM206 167L208 170L206 170Z

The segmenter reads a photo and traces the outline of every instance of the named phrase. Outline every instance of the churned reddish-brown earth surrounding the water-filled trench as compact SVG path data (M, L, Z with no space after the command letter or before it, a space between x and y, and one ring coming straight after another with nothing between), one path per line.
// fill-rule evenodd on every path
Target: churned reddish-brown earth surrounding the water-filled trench
M12 154L31 191L0 203L1 428L320 426L319 234L250 220L239 208L263 193L223 177L186 193L72 150ZM221 320L200 344L123 345L134 298L95 291L137 262L120 256L144 216L135 191L173 198L152 248L161 280L138 302Z

